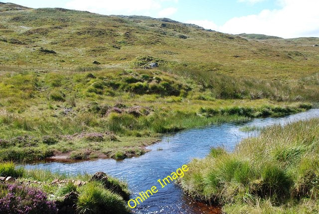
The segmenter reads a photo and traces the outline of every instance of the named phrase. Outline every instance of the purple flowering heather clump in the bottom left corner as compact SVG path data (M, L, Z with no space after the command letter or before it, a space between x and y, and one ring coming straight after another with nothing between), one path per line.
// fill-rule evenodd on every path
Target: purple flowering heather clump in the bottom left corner
M5 193L5 194L3 194ZM1 214L57 214L54 202L34 188L0 184Z

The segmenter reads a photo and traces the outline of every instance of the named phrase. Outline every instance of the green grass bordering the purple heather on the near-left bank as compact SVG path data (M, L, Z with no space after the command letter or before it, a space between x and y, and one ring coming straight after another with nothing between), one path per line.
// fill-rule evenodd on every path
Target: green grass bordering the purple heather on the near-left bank
M129 213L125 200L128 200L130 192L128 185L124 181L108 176L106 184L90 181L88 174L69 176L67 174L52 173L46 170L26 170L17 168L12 162L0 163L0 176L11 176L16 182L28 183L28 187L33 187L44 191L52 201L61 201L63 197L73 191L79 193L76 202L76 210L81 214L96 213ZM50 184L53 180L66 181L60 184ZM75 186L72 181L80 180L87 182L81 187ZM1 197L7 191L0 190Z

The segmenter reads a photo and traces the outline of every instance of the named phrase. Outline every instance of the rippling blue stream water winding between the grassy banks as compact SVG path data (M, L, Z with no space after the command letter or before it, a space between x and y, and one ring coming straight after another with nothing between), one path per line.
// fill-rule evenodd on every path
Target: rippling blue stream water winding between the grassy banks
M159 188L158 179L166 177L193 158L203 158L211 147L223 146L232 151L243 138L258 135L258 131L242 132L241 126L268 126L271 124L286 124L291 121L319 117L319 109L311 109L294 115L280 118L258 118L245 124L226 123L209 127L185 130L165 136L162 140L149 146L152 151L140 157L122 161L99 159L77 163L37 163L26 165L26 168L49 169L50 171L78 174L103 171L109 175L124 179L136 198L141 191L152 186ZM161 148L162 150L158 150ZM187 172L186 172L187 173ZM220 209L189 199L178 186L168 184L159 189L157 194L147 199L134 209L136 214L216 214Z

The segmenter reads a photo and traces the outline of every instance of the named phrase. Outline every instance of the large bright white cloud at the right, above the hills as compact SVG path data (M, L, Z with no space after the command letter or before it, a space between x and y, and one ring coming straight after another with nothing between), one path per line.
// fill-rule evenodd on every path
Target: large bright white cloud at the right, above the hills
M278 0L281 9L262 10L258 14L234 17L215 30L225 33L260 33L294 37L319 37L319 0ZM205 28L213 28L208 20L189 21ZM210 24L209 24L210 23Z

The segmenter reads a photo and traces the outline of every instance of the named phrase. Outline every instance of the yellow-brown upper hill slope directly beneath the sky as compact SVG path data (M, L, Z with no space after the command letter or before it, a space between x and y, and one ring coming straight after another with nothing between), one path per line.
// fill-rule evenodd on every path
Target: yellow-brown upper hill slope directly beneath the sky
M107 16L62 8L0 5L0 63L77 67L98 61L130 67L139 55L168 67L221 73L317 71L316 41L247 41L170 19ZM41 48L53 50L51 54ZM296 75L299 77L299 75Z

